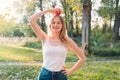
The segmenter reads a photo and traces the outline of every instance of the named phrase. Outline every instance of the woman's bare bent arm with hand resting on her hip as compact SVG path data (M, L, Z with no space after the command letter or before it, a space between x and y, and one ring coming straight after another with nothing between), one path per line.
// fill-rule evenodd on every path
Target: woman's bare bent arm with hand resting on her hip
M77 70L80 66L83 65L83 63L86 61L86 57L85 57L84 51L82 49L80 49L77 46L77 44L70 38L68 38L68 48L70 50L72 50L77 55L77 57L79 58L78 62L76 62L76 64L73 67L71 67L68 70L65 70L66 74L71 74L75 70Z

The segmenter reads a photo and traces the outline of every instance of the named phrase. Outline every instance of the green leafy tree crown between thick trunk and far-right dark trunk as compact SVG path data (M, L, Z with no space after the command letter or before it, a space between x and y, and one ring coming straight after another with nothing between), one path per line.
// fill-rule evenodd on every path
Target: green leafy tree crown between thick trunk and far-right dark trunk
M99 16L104 19L105 23L109 22L109 29L112 31L112 21L115 14L115 0L102 0L102 6L98 10Z

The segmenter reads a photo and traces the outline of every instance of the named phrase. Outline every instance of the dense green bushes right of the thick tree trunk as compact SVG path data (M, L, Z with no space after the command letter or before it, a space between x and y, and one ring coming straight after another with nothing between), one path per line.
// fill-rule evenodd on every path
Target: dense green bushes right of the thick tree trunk
M91 53L97 56L120 56L120 45L113 43L113 33L106 26L104 33L98 26L95 27L90 35Z

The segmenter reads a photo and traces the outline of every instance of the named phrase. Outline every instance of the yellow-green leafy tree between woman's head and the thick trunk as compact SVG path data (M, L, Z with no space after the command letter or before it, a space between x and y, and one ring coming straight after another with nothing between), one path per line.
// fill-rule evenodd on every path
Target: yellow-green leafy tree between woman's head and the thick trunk
M70 37L74 38L75 31L81 22L81 3L80 0L60 0L64 13L65 22Z

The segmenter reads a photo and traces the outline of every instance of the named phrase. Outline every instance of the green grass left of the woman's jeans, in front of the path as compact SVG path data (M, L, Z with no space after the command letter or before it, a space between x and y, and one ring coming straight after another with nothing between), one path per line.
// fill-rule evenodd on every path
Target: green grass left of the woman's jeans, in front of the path
M39 70L39 66L1 66L0 79L37 80Z

